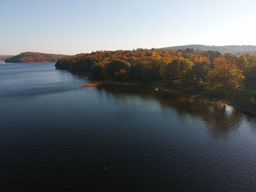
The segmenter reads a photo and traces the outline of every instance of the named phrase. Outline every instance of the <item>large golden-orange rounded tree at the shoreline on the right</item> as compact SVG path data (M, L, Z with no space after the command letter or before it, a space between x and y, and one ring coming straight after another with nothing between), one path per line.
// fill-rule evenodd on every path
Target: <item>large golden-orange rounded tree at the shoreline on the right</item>
M214 68L208 72L208 83L212 89L222 88L224 95L227 91L238 89L242 86L244 75L234 61L226 58L216 58Z

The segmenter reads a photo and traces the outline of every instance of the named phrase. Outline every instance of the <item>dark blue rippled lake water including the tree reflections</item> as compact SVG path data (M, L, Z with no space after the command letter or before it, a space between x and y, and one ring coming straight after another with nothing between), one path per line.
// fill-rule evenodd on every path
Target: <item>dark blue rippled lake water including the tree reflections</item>
M0 191L256 191L256 119L139 86L0 64Z

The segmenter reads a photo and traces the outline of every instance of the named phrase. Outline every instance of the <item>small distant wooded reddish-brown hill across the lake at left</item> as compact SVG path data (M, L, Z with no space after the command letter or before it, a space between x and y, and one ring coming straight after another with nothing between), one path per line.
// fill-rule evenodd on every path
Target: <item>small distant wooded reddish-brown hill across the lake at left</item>
M63 58L64 56L67 55L25 52L5 59L5 63L56 62L59 58Z

